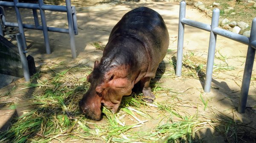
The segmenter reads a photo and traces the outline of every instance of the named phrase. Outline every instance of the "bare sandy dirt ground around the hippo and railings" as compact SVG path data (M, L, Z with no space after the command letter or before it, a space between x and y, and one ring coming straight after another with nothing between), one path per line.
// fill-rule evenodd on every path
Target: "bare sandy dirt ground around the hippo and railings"
M102 6L104 5L104 6ZM79 27L79 35L76 35L76 51L77 58L71 58L70 50L70 40L68 34L49 32L50 47L52 50L51 54L46 54L44 48L44 39L42 31L34 31L26 29L25 35L28 45L28 54L33 56L36 62L36 67L40 69L41 65L51 65L55 62L60 62L61 60L76 61L79 63L87 64L93 67L95 60L99 60L102 56L102 50L96 50L91 43L95 41L102 42L106 44L108 42L108 36L110 34L113 26L121 19L121 17L128 11L137 8L139 6L147 6L154 9L159 14L162 15L166 26L169 30L170 45L169 49L172 50L171 53L166 55L165 62L169 62L174 56L176 56L177 49L177 35L178 35L178 17L179 17L179 3L175 2L134 2L125 1L124 3L115 4L102 4L99 6L94 6L90 8L77 7L77 22ZM33 23L32 11L21 9L22 15L24 17L23 21L26 23ZM8 21L15 20L15 12L12 9L6 10L6 17ZM47 15L47 25L52 27L67 28L67 18L64 13L61 12L50 12L46 11ZM196 20L199 22L204 22L207 24L211 23L211 19L201 12L198 12L196 8L187 6L186 8L186 18L191 20ZM15 39L12 40L14 44L17 42ZM209 32L199 30L197 28L192 28L185 26L185 37L184 37L184 52L188 50L194 51L195 53L200 53L199 59L206 60L209 46ZM239 42L217 36L216 51L220 51L222 55L228 57L227 62L229 65L235 67L235 70L220 72L218 78L212 79L212 88L210 93L203 93L203 97L209 100L208 106L215 109L215 114L220 116L225 116L233 119L234 121L241 121L245 124L244 127L244 142L254 143L255 131L256 131L256 89L255 89L255 79L252 79L252 83L249 90L249 97L247 100L247 108L244 114L239 114L236 109L238 107L240 87L241 87L241 76L244 70L244 61L247 52L247 45L243 45ZM218 52L217 56L220 56ZM231 58L233 57L233 58ZM217 59L215 63L219 62ZM255 66L253 67L255 69ZM166 70L174 70L168 69ZM256 75L255 70L253 75ZM174 76L174 75L173 75ZM203 91L204 79L192 79L185 77L176 77L173 79L160 79L161 84L164 87L174 89L177 92L184 91L180 98L184 101L193 102L200 106L203 106L200 101L199 95ZM30 94L33 91L20 90L24 87L21 85L24 83L24 79L10 84L0 90L0 93L6 93L10 91L14 85L17 89L13 91L15 93L13 97L5 101L1 98L1 102L12 102L19 101L20 95ZM163 100L161 97L157 97L156 101ZM2 104L0 107L3 107ZM195 105L196 106L196 105ZM17 111L16 111L17 110ZM0 128L1 130L7 129L9 126L9 120L15 114L22 114L22 108L16 110L0 109ZM195 114L196 111L193 107L186 108L186 112ZM209 115L211 114L209 110L201 110L198 114ZM143 129L151 129L150 123L154 121L145 123ZM211 127L205 127L200 131L196 132L198 137L204 138L204 143L226 143L224 137L216 132L215 129ZM245 140L248 139L248 140ZM243 142L243 141L241 141Z

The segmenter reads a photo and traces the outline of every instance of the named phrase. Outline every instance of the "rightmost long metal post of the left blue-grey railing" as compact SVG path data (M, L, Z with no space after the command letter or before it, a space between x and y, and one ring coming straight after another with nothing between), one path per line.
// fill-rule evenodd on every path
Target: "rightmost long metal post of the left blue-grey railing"
M75 32L74 32L74 25L73 25L73 17L72 17L72 7L70 0L66 0L66 7L67 7L67 21L68 21L68 29L70 34L70 47L71 47L71 54L72 58L76 58L76 42L75 42Z

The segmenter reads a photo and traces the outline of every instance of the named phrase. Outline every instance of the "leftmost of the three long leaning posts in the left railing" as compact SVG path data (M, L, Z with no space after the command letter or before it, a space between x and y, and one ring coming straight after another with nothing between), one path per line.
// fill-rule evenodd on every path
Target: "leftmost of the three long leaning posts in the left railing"
M23 23L22 23L22 18L21 18L21 15L20 15L20 8L18 8L16 5L17 3L19 3L18 0L13 0L13 3L14 3L14 8L15 8L15 13L16 13L16 17L17 17L17 22L18 22L18 26L19 26L19 31L20 31L20 34L21 34L21 38L22 38L22 44L25 49L27 48L27 45L26 45L26 37L25 37L25 33L24 33L24 28L23 28Z

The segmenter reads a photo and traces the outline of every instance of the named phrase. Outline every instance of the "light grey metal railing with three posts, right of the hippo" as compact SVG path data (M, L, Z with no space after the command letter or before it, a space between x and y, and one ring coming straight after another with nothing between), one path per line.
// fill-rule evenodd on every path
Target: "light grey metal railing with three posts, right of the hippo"
M206 77L204 84L204 91L209 93L212 82L212 70L213 70L213 61L215 55L215 46L217 35L227 37L229 39L241 42L245 45L248 45L247 56L244 66L244 75L241 86L241 93L239 98L238 112L244 113L246 108L246 102L248 97L248 91L250 87L250 78L252 76L253 62L255 57L256 50L256 18L253 19L250 38L242 36L240 34L235 34L233 32L218 28L218 20L220 15L220 10L214 8L212 11L212 23L211 25L197 22L194 20L189 20L185 18L186 14L186 2L180 2L180 14L179 14L179 32L178 32L178 45L177 45L177 64L176 64L176 76L181 76L181 67L183 59L183 39L184 39L184 25L190 25L195 28L200 28L205 31L210 32L209 39L209 49L207 57L207 69Z

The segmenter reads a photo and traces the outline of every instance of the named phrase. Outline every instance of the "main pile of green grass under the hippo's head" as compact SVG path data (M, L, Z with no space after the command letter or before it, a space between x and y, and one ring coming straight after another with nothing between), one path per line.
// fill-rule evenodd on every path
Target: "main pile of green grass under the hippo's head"
M90 86L86 75L92 69L84 65L69 67L65 62L42 69L22 89L32 89L32 95L24 95L20 103L10 106L11 109L26 107L28 110L12 120L8 131L0 133L1 143L47 143L51 140L103 140L108 143L152 143L163 140L170 143L175 140L191 141L198 127L206 125L203 121L180 115L176 107L177 93L158 84L152 89L154 94L166 93L172 97L171 100L148 104L139 94L125 96L117 114L103 108L102 120L105 123L91 121L81 114L78 102ZM76 78L76 73L84 73L85 76ZM174 121L174 116L180 121ZM151 119L165 122L140 132Z

